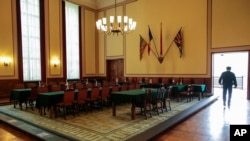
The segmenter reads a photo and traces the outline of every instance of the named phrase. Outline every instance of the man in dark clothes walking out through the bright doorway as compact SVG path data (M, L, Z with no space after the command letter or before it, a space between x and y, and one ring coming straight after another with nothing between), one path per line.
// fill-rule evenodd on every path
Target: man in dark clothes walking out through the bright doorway
M219 78L219 83L223 85L223 105L226 106L226 96L227 96L227 91L228 91L228 107L231 104L231 96L232 96L232 87L237 87L237 81L235 74L231 72L231 67L228 66L226 68L227 70L224 71L220 78Z

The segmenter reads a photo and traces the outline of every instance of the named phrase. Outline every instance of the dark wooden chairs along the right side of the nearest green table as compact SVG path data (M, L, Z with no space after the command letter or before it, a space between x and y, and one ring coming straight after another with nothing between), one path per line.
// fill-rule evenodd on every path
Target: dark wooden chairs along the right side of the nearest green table
M152 117L153 112L159 115L164 111L171 111L171 93L171 86L167 89L159 88L157 93L153 93L152 89L146 89L143 101L136 103L136 107L141 109L146 119Z

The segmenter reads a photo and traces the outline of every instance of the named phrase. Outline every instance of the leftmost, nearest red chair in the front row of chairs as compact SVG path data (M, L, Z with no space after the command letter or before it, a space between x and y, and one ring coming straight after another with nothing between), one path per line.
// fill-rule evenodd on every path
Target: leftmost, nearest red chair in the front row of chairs
M56 104L55 117L58 116L58 111L63 110L63 117L66 119L66 115L72 113L75 116L75 91L72 89L65 90L63 95L63 101Z

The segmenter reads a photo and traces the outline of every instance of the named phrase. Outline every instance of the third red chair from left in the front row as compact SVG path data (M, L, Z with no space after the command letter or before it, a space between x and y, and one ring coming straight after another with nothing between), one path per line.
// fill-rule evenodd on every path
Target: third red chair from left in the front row
M91 90L90 95L90 107L91 109L97 108L101 109L101 96L100 96L100 88L94 87Z

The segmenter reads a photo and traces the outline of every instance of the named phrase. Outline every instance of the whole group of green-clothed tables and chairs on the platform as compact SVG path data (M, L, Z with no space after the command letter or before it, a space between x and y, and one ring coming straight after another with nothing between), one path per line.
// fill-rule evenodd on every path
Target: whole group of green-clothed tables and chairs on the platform
M164 83L105 83L98 85L82 82L59 82L17 84L11 91L10 101L14 107L18 104L26 105L34 110L38 109L40 115L49 115L50 118L80 115L94 112L103 108L111 108L116 116L116 106L132 103L131 119L136 114L145 115L145 119L171 111L171 101L187 102L193 98L194 88L191 84L164 84ZM24 87L26 86L26 87ZM189 88L189 86L192 86ZM198 93L206 91L205 84L195 84ZM185 100L184 100L185 99ZM199 99L200 100L200 99ZM141 113L135 113L139 107ZM49 114L47 114L49 113Z

